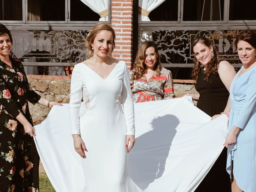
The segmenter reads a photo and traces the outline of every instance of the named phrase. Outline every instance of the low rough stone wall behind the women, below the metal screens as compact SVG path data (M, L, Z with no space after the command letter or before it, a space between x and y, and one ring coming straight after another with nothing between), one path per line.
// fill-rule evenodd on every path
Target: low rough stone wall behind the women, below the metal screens
M49 101L60 103L69 102L70 77L68 76L40 76L28 75L32 90ZM174 94L176 97L184 94L196 94L192 80L174 80ZM29 103L30 113L34 124L40 124L48 115L50 109L40 104Z

